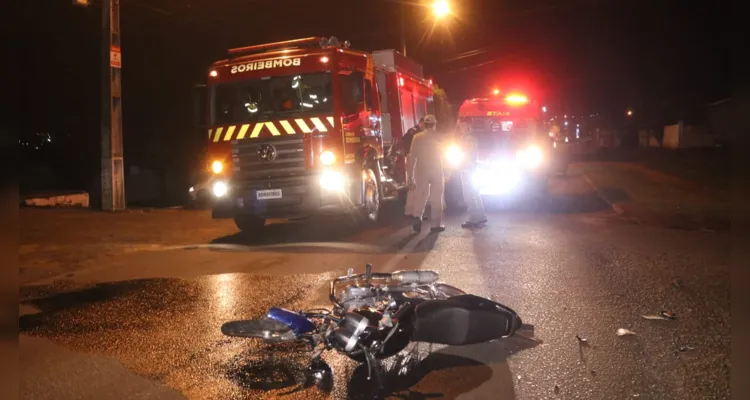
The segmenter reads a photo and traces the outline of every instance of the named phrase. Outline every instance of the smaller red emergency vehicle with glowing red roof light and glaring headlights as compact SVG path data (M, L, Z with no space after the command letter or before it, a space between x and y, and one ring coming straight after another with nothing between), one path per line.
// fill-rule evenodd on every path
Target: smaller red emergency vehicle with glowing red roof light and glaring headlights
M466 100L458 111L457 130L472 133L478 142L472 181L480 194L546 194L551 142L535 101L519 93ZM447 151L453 155L448 161L460 166L460 147ZM459 174L452 174L445 197L449 208L462 203Z

